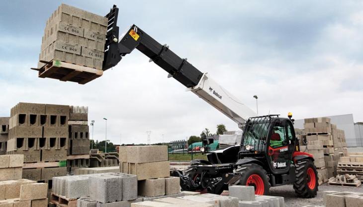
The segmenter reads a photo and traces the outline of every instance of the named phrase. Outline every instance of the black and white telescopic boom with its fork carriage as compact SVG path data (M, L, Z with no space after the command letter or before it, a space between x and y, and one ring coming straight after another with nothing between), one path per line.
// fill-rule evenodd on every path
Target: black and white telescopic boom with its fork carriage
M131 53L135 48L150 58L160 68L169 73L191 92L208 102L238 124L243 124L257 114L216 83L207 73L192 66L186 59L180 58L167 45L161 45L136 25L120 37L118 41L117 23L118 8L114 5L108 17L108 33L105 46L103 70L112 68L121 61L122 57Z

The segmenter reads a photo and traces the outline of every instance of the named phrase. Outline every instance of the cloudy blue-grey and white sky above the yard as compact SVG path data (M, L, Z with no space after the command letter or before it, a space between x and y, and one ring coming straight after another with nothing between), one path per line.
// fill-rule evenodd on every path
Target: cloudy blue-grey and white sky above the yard
M256 110L295 119L353 114L363 121L363 3L357 1L11 0L0 7L0 116L18 102L89 106L94 139L185 139L237 124L186 92L135 50L86 85L37 77L45 22L62 3L99 15L119 9L120 33L136 24ZM91 131L91 128L90 128Z

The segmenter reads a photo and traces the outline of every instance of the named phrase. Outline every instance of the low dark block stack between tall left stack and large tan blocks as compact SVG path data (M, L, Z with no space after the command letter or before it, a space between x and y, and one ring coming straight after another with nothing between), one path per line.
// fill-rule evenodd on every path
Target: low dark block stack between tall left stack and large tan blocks
M90 151L90 167L112 167L119 166L117 152L99 153L98 150Z

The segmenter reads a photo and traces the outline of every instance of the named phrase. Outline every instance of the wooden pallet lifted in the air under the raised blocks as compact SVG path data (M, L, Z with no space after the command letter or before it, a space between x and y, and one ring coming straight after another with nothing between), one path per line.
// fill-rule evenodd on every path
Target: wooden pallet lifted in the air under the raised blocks
M61 81L72 81L78 82L79 84L86 84L103 74L103 70L101 69L92 69L58 60L40 62L47 65L40 69L32 69L38 70L38 76L42 78L49 77Z

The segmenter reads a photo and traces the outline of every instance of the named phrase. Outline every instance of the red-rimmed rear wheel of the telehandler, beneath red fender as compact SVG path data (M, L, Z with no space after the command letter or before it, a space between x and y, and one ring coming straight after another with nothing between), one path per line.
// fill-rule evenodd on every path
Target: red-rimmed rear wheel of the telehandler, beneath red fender
M308 173L310 172L310 175ZM315 182L311 173L315 174ZM309 159L303 159L295 163L295 193L301 198L315 198L318 191L318 172L314 163Z

